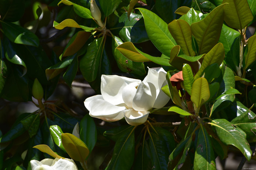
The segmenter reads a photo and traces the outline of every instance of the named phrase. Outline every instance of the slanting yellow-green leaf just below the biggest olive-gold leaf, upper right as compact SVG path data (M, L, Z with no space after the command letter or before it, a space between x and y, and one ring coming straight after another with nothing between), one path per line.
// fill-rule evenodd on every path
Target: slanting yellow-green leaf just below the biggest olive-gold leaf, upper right
M209 51L206 54L206 56L204 56L203 63L201 65L200 69L198 70L198 72L196 73L194 79L195 80L198 79L207 66L210 66L213 63L217 63L220 66L224 60L224 56L225 56L225 50L224 50L223 44L222 43L216 44L211 49L211 51Z

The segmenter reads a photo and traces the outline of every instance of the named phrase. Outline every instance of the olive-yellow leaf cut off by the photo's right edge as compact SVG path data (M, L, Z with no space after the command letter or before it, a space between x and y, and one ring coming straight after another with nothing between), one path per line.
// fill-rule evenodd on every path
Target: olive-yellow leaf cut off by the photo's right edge
M245 68L248 68L256 60L256 35L253 35L247 40L248 53L245 56Z

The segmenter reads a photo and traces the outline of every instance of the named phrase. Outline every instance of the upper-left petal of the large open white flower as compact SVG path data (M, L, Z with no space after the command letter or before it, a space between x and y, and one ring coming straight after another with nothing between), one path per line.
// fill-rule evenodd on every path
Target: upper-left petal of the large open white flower
M122 98L123 88L132 82L139 82L137 79L130 79L117 75L101 76L101 94L104 100L114 105L124 103Z

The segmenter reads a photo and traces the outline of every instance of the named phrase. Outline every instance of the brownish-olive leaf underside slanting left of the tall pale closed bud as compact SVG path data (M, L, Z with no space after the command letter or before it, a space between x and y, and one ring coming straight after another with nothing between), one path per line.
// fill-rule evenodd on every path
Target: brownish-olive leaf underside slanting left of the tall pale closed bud
M88 38L90 37L91 33L86 31L79 31L77 32L68 42L67 47L63 52L64 56L70 56L78 52L80 48L86 43Z

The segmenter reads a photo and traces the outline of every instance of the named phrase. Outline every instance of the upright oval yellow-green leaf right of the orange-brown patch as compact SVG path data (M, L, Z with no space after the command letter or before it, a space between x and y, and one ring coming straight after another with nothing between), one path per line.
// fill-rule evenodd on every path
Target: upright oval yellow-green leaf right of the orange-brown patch
M205 78L198 78L192 86L191 101L199 109L210 98L209 84Z

